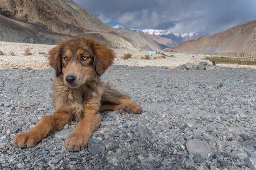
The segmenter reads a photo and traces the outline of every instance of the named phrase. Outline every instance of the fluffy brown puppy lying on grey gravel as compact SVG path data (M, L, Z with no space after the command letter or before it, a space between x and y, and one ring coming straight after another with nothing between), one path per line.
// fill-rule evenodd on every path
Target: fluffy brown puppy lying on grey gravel
M68 151L77 152L101 124L99 112L118 110L125 114L141 113L142 107L103 83L100 75L113 63L114 53L106 44L88 37L74 37L59 42L49 52L49 63L56 71L53 104L56 113L42 117L31 130L18 134L16 147L34 147L51 131L79 121L64 143Z

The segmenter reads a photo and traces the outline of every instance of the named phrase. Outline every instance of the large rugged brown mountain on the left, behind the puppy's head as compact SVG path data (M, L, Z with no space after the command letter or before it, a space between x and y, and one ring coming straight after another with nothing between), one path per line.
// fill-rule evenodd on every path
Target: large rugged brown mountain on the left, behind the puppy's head
M161 50L142 33L112 28L72 0L0 1L0 41L55 44L89 35L113 48Z

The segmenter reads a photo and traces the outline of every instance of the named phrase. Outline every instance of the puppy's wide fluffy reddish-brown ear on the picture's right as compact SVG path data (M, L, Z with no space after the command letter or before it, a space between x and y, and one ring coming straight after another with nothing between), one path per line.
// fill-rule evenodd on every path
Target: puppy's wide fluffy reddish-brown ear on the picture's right
M115 55L113 50L110 49L107 44L94 39L92 39L92 41L94 70L97 75L101 75L110 65L112 65Z

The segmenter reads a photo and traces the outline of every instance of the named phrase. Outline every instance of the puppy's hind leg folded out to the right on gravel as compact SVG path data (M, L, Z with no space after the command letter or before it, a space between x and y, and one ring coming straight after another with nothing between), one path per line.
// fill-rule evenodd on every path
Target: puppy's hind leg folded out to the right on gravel
M128 95L123 95L117 90L114 90L109 84L106 85L105 91L101 96L101 101L103 104L100 108L100 112L117 110L119 110L120 114L129 112L139 114L142 112L141 105L131 101Z

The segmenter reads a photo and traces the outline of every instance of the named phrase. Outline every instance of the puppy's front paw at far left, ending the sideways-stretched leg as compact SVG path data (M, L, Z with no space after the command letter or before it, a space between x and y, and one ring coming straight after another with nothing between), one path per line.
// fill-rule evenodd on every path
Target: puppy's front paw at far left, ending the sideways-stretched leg
M35 134L22 133L16 135L13 145L19 148L29 148L34 147L39 141L40 139Z

